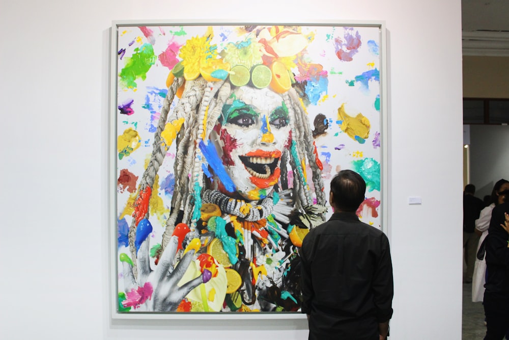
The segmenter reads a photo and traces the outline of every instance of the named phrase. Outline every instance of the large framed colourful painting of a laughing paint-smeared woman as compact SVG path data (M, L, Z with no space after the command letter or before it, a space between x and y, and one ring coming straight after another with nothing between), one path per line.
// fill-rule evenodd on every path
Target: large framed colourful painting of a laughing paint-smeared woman
M383 23L114 22L114 317L297 315L342 169L384 228Z

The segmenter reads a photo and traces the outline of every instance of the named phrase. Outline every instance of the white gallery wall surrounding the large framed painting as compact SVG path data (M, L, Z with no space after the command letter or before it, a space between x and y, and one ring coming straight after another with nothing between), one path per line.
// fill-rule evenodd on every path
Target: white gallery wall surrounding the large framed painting
M461 339L460 0L3 0L0 338L307 338L304 318L110 319L109 37L112 20L134 19L384 20L390 338Z

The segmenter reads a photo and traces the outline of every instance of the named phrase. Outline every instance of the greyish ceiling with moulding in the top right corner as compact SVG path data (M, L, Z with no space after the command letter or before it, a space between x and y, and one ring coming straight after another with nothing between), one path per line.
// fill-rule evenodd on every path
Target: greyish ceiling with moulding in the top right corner
M464 56L509 57L509 0L462 0Z

